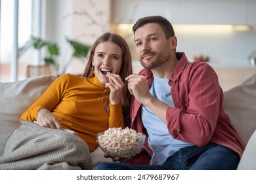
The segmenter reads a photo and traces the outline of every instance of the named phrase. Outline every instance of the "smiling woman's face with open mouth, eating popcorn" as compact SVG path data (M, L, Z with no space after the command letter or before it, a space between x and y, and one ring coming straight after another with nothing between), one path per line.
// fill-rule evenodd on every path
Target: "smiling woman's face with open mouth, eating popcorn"
M98 80L102 84L106 84L108 73L119 75L121 65L123 63L123 53L121 48L113 42L101 42L96 46L93 54L93 66Z

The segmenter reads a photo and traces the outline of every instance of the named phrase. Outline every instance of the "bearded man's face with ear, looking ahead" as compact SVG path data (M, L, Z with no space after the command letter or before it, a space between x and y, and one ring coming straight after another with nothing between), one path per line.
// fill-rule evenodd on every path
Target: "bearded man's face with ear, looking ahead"
M145 24L135 31L135 47L140 64L146 69L157 69L171 58L171 39L156 23Z

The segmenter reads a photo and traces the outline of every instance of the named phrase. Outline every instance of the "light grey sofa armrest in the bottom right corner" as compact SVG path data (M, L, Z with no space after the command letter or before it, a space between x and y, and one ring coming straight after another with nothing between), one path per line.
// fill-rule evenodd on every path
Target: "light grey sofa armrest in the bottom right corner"
M256 169L256 130L251 135L244 150L244 154L238 164L238 170L255 170Z

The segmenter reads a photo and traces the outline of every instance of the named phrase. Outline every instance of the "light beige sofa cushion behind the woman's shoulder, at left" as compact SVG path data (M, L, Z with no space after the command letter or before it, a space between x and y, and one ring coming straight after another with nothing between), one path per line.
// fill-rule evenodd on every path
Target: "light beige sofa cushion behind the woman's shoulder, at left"
M0 156L12 131L18 127L20 116L42 95L56 79L52 75L0 83Z

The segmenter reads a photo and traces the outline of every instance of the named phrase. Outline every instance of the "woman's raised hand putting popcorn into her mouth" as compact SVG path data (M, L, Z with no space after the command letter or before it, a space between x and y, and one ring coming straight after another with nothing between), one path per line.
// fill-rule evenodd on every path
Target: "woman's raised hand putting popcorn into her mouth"
M121 93L123 91L123 81L121 77L116 74L106 75L110 82L106 86L110 88L110 103L117 104L121 102Z

